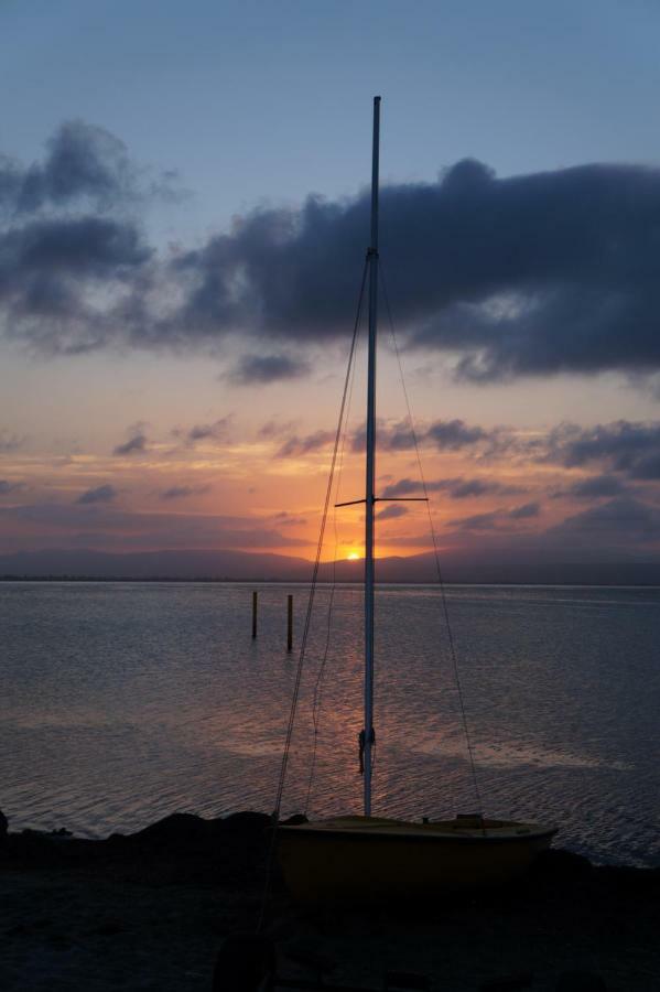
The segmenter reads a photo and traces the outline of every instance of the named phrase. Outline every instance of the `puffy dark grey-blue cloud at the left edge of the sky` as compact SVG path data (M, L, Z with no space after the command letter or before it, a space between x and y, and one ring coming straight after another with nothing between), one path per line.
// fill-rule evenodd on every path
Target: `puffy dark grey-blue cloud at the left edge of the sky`
M0 158L6 333L64 354L121 344L138 327L148 341L164 294L148 300L154 250L136 208L161 195L175 195L171 176L138 168L118 138L83 121L64 123L41 162Z

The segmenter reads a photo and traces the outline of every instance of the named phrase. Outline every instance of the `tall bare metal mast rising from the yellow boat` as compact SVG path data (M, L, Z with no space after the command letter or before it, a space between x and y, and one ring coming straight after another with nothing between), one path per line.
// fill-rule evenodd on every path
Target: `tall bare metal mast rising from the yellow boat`
M376 475L376 336L378 328L378 159L380 97L374 97L371 157L371 242L369 262L369 351L367 363L367 459L365 487L365 816L371 816L371 746L374 735L374 509Z

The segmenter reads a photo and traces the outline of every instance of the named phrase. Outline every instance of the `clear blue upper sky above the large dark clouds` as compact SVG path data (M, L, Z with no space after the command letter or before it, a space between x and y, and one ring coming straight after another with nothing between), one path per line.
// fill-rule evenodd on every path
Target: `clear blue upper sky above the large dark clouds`
M4 2L0 138L40 154L63 118L118 134L194 192L177 230L262 198L353 193L369 97L383 175L464 157L499 174L656 162L650 2Z

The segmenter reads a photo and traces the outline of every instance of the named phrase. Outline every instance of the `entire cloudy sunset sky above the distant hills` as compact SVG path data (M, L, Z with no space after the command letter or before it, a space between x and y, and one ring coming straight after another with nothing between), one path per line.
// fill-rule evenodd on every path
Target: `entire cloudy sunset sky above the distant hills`
M646 0L0 0L0 556L313 556L379 93L441 549L657 560L659 43ZM381 314L379 488L419 495ZM379 554L429 550L420 506Z

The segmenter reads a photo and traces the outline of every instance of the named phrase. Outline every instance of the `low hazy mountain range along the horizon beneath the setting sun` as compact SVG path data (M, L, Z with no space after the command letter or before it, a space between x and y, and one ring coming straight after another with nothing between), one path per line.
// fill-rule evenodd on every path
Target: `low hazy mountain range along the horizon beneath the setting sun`
M511 557L479 561L465 556L443 556L446 582L506 582L584 585L660 585L660 563L649 561L530 561ZM325 562L321 581L335 574L339 582L359 582L361 561ZM91 550L24 551L0 556L3 579L99 579L99 580L227 580L246 582L309 582L312 562L284 554L247 551L140 551L112 554ZM405 558L381 558L377 562L379 582L434 582L437 579L432 553Z

